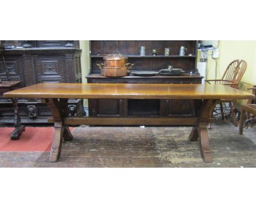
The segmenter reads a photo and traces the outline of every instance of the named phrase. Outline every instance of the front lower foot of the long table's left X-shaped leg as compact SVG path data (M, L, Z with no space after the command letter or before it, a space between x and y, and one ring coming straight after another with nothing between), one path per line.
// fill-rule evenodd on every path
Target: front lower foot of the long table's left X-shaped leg
M53 144L51 145L50 158L49 158L50 162L56 162L60 157L63 131L64 131L64 127L62 125L62 122L55 122Z

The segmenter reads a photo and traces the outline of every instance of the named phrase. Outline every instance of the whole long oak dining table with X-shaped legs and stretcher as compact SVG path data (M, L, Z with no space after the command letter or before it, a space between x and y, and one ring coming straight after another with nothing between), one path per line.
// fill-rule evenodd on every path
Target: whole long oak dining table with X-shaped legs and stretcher
M72 140L70 125L174 125L193 126L188 139L199 140L201 156L212 162L207 122L220 99L254 99L245 91L221 84L120 84L40 83L4 93L4 97L40 98L53 114L54 133L50 162L61 154L63 140ZM68 99L189 99L193 116L169 117L69 117Z

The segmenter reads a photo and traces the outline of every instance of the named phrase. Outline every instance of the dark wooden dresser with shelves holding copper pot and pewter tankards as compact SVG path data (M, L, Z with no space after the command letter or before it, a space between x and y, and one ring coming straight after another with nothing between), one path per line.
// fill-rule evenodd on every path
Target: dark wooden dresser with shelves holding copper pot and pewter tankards
M139 48L145 46L146 56L139 56ZM179 48L187 48L187 56L179 56ZM170 56L164 56L165 48L170 48ZM153 48L156 56L152 55ZM91 40L90 72L86 76L88 83L152 83L178 84L201 83L203 77L189 74L196 71L196 40ZM168 65L185 70L181 76L133 76L104 77L97 64L103 63L105 54L119 51L134 64L132 71L159 71ZM98 55L102 54L102 55ZM192 54L192 56L188 56ZM89 116L132 117L172 117L177 115L194 116L193 102L190 100L127 100L127 99L89 99ZM156 124L157 125L157 124Z

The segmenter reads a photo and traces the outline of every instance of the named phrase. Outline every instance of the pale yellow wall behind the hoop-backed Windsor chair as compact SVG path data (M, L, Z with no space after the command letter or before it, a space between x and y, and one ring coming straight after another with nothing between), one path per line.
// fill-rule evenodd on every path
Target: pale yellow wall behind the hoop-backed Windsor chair
M247 62L247 69L241 81L256 84L256 41L255 40L221 40L219 42L219 59L217 78L221 78L226 66L232 60L243 59ZM214 78L215 62L208 56L207 79Z

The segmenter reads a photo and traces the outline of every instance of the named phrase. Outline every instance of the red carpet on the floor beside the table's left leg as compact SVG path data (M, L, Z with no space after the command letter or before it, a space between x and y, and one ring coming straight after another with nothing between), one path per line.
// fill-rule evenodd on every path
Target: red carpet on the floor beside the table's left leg
M70 128L71 131L73 128ZM50 151L53 127L26 127L19 140L11 140L14 128L0 128L0 151Z

